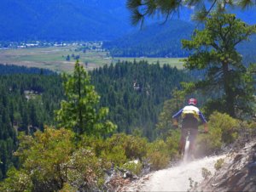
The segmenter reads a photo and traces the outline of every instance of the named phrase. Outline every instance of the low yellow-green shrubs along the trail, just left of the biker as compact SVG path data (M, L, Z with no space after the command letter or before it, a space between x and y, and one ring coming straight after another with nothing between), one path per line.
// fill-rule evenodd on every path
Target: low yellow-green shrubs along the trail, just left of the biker
M82 138L81 146L90 146L100 159L138 174L141 170L141 163L146 160L149 161L153 170L166 167L170 159L177 155L178 135L179 133L175 132L172 137L166 139L166 142L157 139L148 143L145 138L119 133L113 134L105 141L100 138ZM129 163L135 160L139 161L136 166L134 163Z

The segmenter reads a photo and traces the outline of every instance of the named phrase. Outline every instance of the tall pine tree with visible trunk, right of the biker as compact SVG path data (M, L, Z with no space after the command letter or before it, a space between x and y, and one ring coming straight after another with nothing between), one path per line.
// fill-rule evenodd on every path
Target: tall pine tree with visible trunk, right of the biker
M221 111L238 116L252 113L253 79L241 64L236 45L256 32L234 14L211 14L201 31L195 30L191 40L183 40L183 48L194 51L185 59L189 70L205 70L206 78L196 82L196 89L214 93L212 99L222 102ZM214 105L208 107L214 108Z

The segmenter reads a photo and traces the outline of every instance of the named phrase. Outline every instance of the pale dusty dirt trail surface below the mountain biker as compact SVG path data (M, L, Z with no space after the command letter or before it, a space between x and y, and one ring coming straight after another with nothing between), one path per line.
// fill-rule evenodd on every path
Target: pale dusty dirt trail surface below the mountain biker
M132 184L125 191L188 191L191 178L194 182L200 183L203 180L201 170L207 168L214 174L214 164L224 155L205 157L200 160L181 163L177 167L153 172L141 178L137 183ZM195 183L194 183L195 184Z

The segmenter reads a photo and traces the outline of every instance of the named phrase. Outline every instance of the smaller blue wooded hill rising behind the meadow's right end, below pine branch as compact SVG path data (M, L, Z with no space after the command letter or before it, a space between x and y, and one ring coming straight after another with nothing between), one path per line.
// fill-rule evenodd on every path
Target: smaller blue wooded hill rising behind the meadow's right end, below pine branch
M165 24L148 25L103 47L113 56L125 57L185 57L181 39L189 38L195 25L182 20L170 20Z

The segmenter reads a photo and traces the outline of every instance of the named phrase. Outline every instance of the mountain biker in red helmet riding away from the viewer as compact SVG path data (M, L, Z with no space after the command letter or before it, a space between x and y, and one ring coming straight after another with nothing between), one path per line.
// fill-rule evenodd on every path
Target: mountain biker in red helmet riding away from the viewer
M185 144L186 144L186 138L189 134L189 154L192 154L194 150L194 144L195 144L195 138L198 133L198 124L199 119L204 123L204 129L205 133L208 133L208 127L207 127L207 120L202 115L201 111L196 107L197 100L196 99L189 99L189 105L185 106L183 109L177 111L177 113L172 116L174 119L173 125L177 127L177 121L178 117L182 116L182 135L180 138L180 144L179 144L179 154L182 155Z

